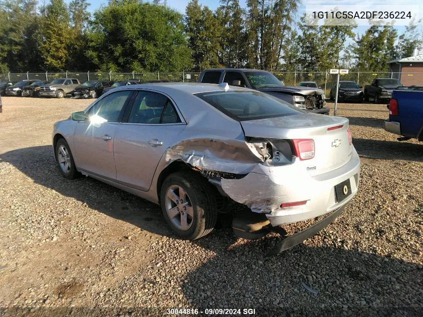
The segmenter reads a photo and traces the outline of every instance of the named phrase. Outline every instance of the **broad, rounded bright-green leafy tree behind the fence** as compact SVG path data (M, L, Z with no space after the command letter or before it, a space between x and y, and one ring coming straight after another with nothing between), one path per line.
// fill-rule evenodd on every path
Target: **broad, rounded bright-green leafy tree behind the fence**
M180 72L191 67L182 15L135 0L111 2L95 12L87 56L102 71Z

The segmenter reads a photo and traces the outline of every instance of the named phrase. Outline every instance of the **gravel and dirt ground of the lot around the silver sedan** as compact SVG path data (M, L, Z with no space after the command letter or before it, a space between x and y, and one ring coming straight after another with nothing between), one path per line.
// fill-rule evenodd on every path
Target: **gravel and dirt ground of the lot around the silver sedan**
M221 229L182 241L158 206L90 178L63 178L53 123L89 103L3 98L0 315L130 316L176 307L421 315L423 143L385 132L385 105L339 105L361 157L359 192L318 235L266 258L275 235L247 241Z

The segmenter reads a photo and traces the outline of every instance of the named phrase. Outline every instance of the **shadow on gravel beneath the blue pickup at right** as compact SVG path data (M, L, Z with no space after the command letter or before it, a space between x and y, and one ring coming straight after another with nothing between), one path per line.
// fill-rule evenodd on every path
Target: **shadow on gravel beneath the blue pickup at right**
M352 138L360 157L423 162L423 144Z

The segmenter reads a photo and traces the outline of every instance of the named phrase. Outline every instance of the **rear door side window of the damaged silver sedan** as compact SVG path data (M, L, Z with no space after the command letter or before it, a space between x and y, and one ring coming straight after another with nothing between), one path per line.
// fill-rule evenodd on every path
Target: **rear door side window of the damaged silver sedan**
M140 91L129 113L128 123L178 123L181 122L172 102L164 95Z

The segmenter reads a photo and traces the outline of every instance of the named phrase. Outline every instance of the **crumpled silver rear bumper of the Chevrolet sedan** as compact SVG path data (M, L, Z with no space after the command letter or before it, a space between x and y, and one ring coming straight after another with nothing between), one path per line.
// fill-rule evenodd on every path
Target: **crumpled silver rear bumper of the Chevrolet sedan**
M223 191L254 212L265 213L272 226L321 216L346 205L357 193L360 160L355 149L345 165L320 175L310 176L292 165L269 167L258 164L241 179L222 179ZM335 185L349 179L351 194L336 202ZM280 208L284 202L306 204Z

